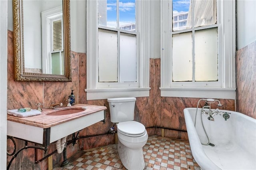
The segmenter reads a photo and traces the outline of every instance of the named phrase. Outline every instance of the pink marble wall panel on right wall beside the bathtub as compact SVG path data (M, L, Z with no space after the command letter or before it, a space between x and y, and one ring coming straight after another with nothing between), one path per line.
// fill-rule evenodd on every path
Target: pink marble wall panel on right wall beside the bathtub
M236 52L237 111L256 119L256 41Z

